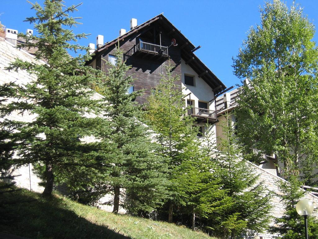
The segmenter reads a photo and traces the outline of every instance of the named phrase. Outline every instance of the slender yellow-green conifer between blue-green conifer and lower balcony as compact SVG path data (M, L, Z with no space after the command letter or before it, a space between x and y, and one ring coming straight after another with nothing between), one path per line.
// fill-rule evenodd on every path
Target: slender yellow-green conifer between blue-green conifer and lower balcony
M173 221L173 214L184 213L184 210L188 214L195 213L197 183L203 180L202 175L198 176L203 165L197 141L198 128L193 126L195 119L187 115L189 108L184 107L184 95L176 85L180 76L173 75L171 69L169 64L161 83L148 98L145 117L156 132L156 141L161 145L160 154L169 165L169 194L172 198L166 203L169 207L168 222ZM178 212L178 208L183 212Z

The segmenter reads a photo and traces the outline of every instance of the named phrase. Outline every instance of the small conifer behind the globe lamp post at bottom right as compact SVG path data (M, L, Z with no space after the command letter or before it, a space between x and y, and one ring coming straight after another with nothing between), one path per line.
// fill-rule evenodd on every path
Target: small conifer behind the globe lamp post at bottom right
M298 169L295 170L299 171ZM279 239L302 239L305 237L304 218L296 212L296 204L305 195L301 190L302 183L294 174L288 176L287 181L280 181L281 202L285 206L285 213L280 218L275 218L277 226L270 228L270 232L277 234ZM318 238L318 221L313 216L308 217L308 237Z

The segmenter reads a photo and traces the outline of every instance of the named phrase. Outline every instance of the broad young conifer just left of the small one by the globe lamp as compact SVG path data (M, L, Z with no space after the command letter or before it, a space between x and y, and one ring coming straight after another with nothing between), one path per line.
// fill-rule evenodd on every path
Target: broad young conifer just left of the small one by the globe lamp
M259 175L248 162L249 155L240 156L243 147L234 134L231 117L225 117L221 124L225 138L220 138L220 154L214 160L226 197L207 222L214 236L233 239L249 231L262 232L268 226L271 193L259 182Z

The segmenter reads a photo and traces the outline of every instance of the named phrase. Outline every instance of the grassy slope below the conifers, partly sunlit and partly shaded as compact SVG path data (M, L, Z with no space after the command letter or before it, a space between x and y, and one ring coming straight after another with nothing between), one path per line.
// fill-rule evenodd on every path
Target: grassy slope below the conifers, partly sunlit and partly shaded
M0 232L50 239L212 239L185 227L107 213L59 195L45 200L37 193L22 190L14 198L33 201L7 205L4 209L0 206L0 218L11 220L0 223Z

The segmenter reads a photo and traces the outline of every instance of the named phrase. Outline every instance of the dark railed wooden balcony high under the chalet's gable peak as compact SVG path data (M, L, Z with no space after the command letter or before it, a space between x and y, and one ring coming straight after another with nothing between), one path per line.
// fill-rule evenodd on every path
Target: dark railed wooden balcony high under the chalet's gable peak
M132 55L140 55L142 58L156 58L160 60L162 58L168 58L168 47L148 43L148 42L138 42L134 47L132 47L126 54L126 59Z

